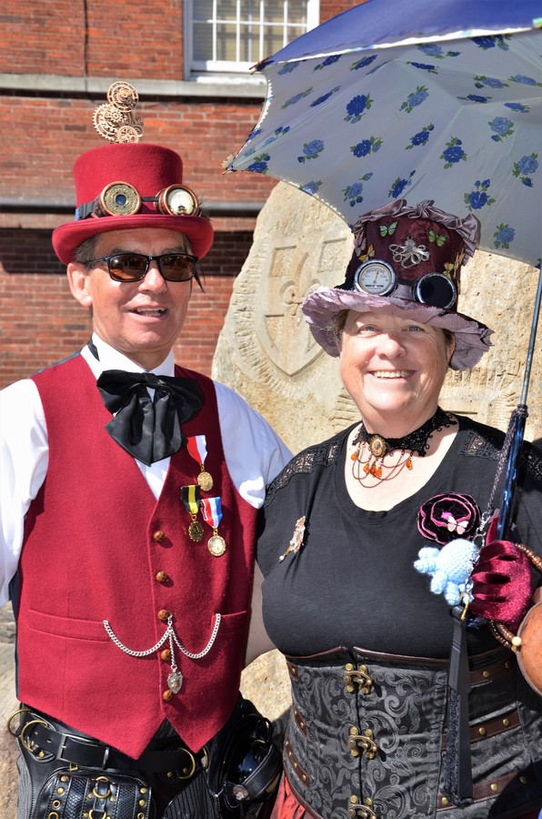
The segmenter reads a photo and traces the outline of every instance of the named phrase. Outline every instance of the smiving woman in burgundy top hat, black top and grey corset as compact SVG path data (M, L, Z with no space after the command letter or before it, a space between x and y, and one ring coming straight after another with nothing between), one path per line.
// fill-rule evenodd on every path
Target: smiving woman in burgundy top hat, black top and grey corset
M448 367L489 347L457 312L477 220L398 200L355 236L346 281L303 311L360 419L300 452L260 512L293 696L274 817L534 817L542 698L496 622L515 636L541 581L542 459L525 446L497 541L505 436L439 407Z

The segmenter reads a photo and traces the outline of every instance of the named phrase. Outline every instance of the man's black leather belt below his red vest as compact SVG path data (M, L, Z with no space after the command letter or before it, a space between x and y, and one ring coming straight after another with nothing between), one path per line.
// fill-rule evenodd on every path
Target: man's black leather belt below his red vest
M26 750L35 757L39 756L41 750L46 754L53 754L63 762L88 768L171 772L176 773L176 777L180 779L190 779L196 770L206 765L205 749L196 756L180 740L156 740L156 744L160 744L162 748L147 749L140 757L132 759L111 745L99 743L90 737L55 730L45 716L33 712L25 714L19 736Z

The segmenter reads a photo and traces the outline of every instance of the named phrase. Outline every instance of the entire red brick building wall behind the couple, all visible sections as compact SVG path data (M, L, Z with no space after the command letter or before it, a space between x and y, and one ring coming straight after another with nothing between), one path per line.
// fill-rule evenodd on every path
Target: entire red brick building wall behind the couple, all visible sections
M356 3L320 6L322 21ZM183 80L182 0L4 0L0 11L0 74ZM88 338L83 310L67 288L50 233L75 206L72 166L83 151L104 144L92 125L91 94L55 92L39 84L0 87L0 199L20 202L0 211L0 387L74 352ZM222 162L256 124L259 99L142 96L138 114L146 142L183 157L185 181L204 201L264 202L276 182L258 174L225 176ZM51 214L33 216L32 203ZM56 207L55 207L56 206ZM60 210L59 210L60 208ZM45 229L47 226L47 229ZM233 282L252 242L254 219L215 220L216 242L205 259L205 295L197 288L176 358L210 373Z

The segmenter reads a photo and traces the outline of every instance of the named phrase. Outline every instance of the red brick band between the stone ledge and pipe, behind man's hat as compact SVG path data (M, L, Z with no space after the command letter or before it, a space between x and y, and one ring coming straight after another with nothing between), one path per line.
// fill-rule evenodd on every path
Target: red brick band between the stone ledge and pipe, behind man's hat
M1 41L0 41L1 42ZM1 51L1 48L0 48ZM73 202L72 167L76 157L105 141L93 126L95 107L105 99L0 96L2 133L0 197ZM224 174L222 163L245 142L256 124L254 100L143 99L144 141L176 150L184 160L186 184L204 200L259 200L273 180L261 174Z

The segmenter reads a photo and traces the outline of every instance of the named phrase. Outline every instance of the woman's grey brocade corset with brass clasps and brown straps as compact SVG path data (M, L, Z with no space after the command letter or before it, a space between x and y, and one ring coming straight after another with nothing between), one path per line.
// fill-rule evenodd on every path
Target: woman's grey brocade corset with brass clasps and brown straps
M323 819L512 819L542 806L542 703L497 649L470 658L474 802L443 795L447 661L337 649L286 657L288 781Z

